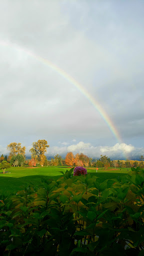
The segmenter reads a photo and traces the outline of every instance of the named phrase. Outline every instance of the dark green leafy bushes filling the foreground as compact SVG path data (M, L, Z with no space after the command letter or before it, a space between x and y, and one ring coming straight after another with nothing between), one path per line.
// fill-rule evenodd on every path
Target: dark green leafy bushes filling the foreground
M144 170L102 183L72 172L1 195L0 255L144 255Z

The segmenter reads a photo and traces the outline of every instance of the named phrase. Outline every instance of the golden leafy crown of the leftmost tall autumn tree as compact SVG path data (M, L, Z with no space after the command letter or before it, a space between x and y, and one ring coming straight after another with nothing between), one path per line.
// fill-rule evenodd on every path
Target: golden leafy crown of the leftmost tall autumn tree
M11 142L6 148L10 151L11 156L16 154L25 154L25 146L21 147L21 143Z

